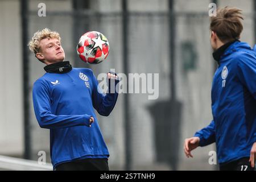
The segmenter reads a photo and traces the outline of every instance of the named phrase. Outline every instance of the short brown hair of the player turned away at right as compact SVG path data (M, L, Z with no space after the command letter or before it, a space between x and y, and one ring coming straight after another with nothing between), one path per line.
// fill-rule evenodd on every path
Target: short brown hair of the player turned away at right
M243 25L242 10L235 7L224 7L217 10L217 16L210 18L210 30L216 32L222 42L240 39Z

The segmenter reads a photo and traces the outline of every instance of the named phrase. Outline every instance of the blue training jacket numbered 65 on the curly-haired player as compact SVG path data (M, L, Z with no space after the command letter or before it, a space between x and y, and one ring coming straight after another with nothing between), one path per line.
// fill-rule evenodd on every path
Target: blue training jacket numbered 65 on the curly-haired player
M109 157L94 109L108 116L118 93L103 94L98 88L96 77L87 68L46 73L34 83L35 115L40 127L50 129L53 168L75 159ZM88 127L91 116L94 123Z

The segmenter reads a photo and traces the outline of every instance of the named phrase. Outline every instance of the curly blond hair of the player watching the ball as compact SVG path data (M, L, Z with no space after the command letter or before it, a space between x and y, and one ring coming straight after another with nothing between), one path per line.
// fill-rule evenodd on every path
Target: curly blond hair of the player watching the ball
M35 32L34 36L32 37L32 40L30 40L30 42L28 43L30 51L34 52L35 55L36 53L40 52L40 41L46 38L56 38L59 41L61 40L60 34L58 32L51 31L49 30L49 28L44 28L41 31Z

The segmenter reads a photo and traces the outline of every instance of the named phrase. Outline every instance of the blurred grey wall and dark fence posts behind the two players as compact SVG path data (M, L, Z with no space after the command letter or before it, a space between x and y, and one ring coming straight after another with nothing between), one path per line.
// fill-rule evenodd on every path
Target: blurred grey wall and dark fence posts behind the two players
M49 130L39 127L31 94L45 65L27 46L34 32L47 27L60 33L65 60L93 69L96 77L111 68L159 73L158 99L122 93L109 117L97 115L110 170L218 169L209 164L214 144L197 148L193 159L183 154L184 139L212 120L210 88L217 67L209 43L212 2L243 10L241 40L253 46L253 0L0 0L0 155L37 161L45 151L51 163ZM42 3L46 16L40 16ZM82 62L76 53L80 36L92 30L110 43L108 59L98 65Z

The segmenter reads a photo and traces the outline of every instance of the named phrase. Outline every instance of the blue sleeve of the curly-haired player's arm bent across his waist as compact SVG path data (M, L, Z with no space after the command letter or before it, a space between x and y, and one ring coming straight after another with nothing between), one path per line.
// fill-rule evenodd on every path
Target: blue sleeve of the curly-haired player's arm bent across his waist
M34 111L40 127L61 129L72 126L89 126L90 115L55 115L51 112L51 98L46 83L38 80L32 91Z

